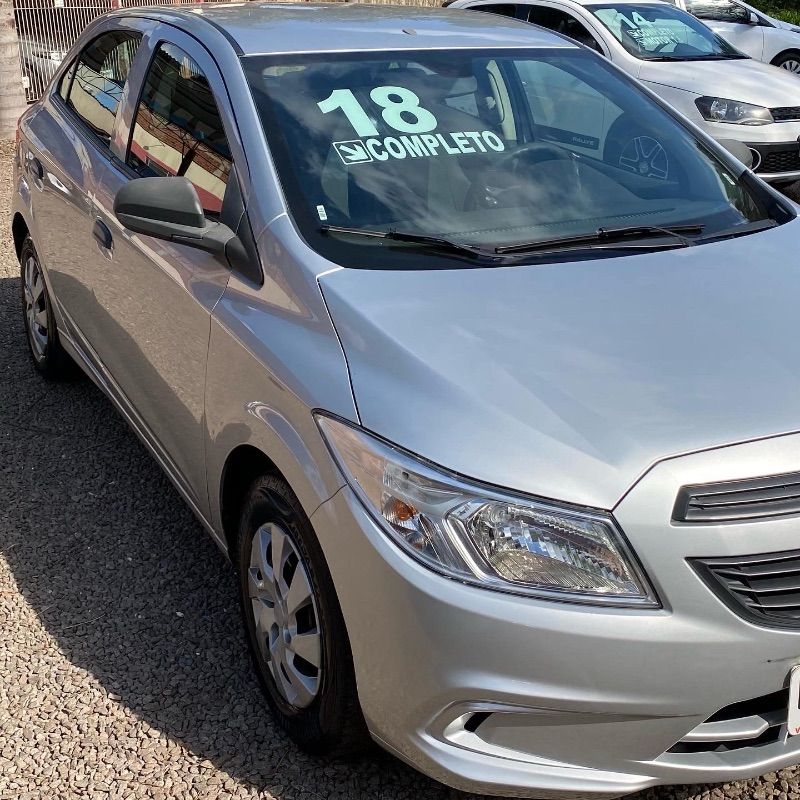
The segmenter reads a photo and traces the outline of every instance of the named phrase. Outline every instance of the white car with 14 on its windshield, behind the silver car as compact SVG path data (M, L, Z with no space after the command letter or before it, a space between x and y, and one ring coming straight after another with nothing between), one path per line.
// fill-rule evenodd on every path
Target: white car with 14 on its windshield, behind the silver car
M658 0L455 0L448 5L515 17L596 50L713 138L746 145L750 166L764 180L800 179L797 79L741 53L674 5ZM537 125L547 128L544 113ZM576 115L575 134L589 142L602 138L607 147L615 143L618 153L605 153L606 159L613 156L642 174L667 168L669 143L644 135L635 121L626 120L624 130L606 137L604 131L589 130L585 119Z

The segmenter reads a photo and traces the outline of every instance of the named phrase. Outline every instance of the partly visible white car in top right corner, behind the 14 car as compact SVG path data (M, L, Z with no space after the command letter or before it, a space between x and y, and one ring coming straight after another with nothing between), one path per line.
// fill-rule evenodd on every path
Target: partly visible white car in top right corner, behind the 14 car
M800 27L739 0L669 0L743 53L800 75Z

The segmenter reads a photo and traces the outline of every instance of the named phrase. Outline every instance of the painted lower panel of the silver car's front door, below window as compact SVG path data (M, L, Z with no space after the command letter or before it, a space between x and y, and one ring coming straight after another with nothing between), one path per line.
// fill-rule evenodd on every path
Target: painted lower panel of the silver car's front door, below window
M94 348L205 512L206 355L211 311L230 273L207 253L126 231L112 209L128 180L109 166L97 185L97 217L112 249L92 240L100 334Z

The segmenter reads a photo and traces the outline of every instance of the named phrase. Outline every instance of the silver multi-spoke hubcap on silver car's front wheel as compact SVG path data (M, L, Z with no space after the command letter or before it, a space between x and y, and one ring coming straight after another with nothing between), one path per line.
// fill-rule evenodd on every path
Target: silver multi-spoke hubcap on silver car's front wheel
M322 677L319 614L303 559L275 523L262 525L253 537L248 586L261 657L283 699L305 708Z

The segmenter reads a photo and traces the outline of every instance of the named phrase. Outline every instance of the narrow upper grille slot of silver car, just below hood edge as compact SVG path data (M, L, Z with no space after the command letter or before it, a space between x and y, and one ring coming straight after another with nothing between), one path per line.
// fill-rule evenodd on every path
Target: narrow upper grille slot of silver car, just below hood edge
M698 524L800 514L800 473L684 486L672 519Z

